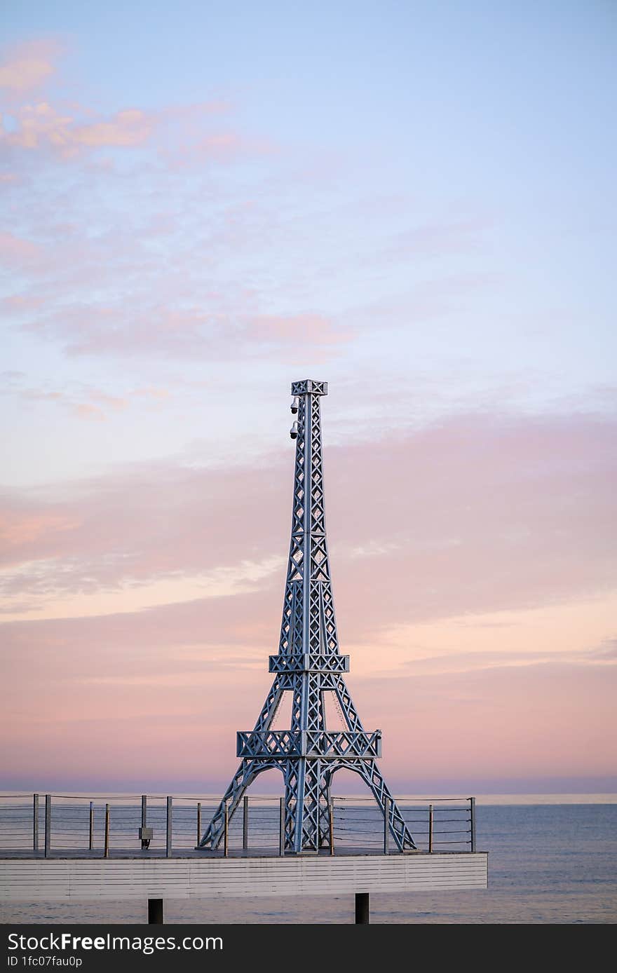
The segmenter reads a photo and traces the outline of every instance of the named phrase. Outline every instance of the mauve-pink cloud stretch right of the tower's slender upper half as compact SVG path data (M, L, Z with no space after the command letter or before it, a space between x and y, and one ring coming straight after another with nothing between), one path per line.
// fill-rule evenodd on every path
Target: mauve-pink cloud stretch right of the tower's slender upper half
M329 487L331 542L346 549L342 571L352 565L356 590L374 593L365 625L612 587L614 433L613 420L582 415L476 416L343 448ZM352 603L343 574L339 610L350 616Z

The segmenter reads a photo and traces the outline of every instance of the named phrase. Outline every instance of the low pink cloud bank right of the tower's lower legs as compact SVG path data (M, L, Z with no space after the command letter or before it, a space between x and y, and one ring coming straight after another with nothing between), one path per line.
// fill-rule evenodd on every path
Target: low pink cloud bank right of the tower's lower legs
M616 690L617 667L560 660L360 680L354 702L381 726L383 768L407 789L418 775L614 775ZM422 741L413 762L410 740Z

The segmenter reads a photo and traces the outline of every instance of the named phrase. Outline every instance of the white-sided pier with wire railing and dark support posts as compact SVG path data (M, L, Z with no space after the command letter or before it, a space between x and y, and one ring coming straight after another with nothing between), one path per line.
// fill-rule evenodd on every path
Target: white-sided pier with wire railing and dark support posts
M245 798L227 815L220 847L199 849L213 799L136 795L16 794L0 799L0 901L141 898L163 922L165 898L353 894L355 921L372 892L486 888L488 855L475 848L473 799L398 799L417 850L389 840L373 799L335 797L331 846L281 848L281 802ZM144 838L143 835L149 837ZM146 845L147 843L147 845ZM281 853L282 851L282 853Z

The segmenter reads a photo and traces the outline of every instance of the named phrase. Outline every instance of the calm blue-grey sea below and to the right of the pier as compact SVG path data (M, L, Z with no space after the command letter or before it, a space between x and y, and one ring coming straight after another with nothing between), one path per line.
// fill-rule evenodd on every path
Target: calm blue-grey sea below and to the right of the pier
M371 896L382 923L612 923L617 920L617 805L482 806L478 849L489 889ZM165 922L352 922L353 896L165 899ZM3 922L144 922L145 902L19 905Z

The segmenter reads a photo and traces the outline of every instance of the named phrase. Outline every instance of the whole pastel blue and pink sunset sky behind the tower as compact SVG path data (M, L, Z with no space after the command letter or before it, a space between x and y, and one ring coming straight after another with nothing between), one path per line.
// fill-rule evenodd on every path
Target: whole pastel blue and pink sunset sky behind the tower
M617 791L617 7L8 0L3 28L0 786L227 786L317 378L390 788Z

